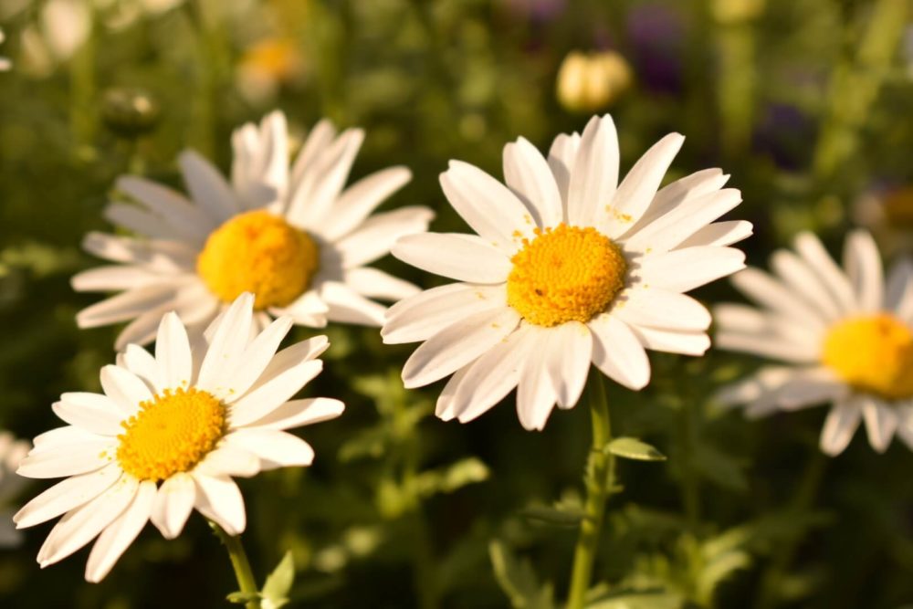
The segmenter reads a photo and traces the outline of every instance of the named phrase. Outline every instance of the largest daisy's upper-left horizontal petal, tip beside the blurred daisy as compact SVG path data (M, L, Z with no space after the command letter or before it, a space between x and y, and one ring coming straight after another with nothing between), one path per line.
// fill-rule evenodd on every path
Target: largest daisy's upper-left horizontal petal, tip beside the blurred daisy
M429 273L469 283L503 283L510 260L480 236L462 233L425 233L402 237L393 255Z

